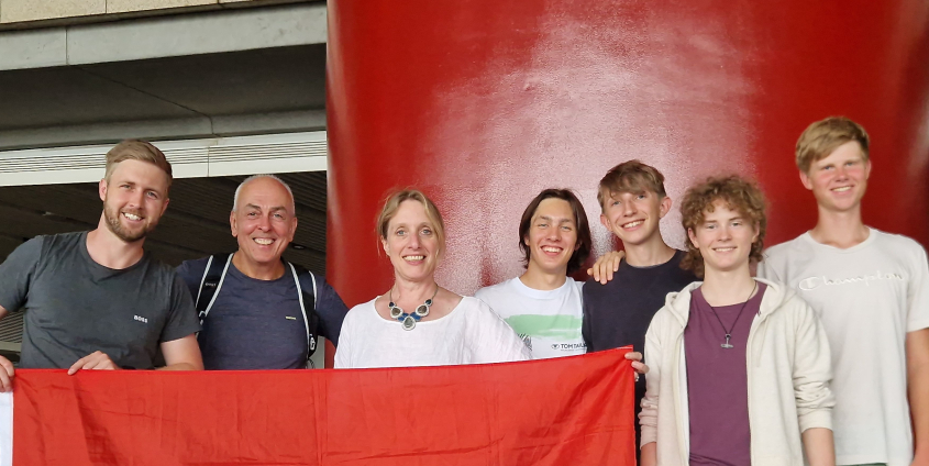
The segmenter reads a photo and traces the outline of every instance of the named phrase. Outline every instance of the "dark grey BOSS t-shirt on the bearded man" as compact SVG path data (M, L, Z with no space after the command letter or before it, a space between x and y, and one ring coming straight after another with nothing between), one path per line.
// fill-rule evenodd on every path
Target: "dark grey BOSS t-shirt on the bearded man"
M151 369L161 342L200 330L174 269L146 253L121 270L97 264L87 232L36 236L0 264L0 306L25 311L20 367L68 368L96 351Z

